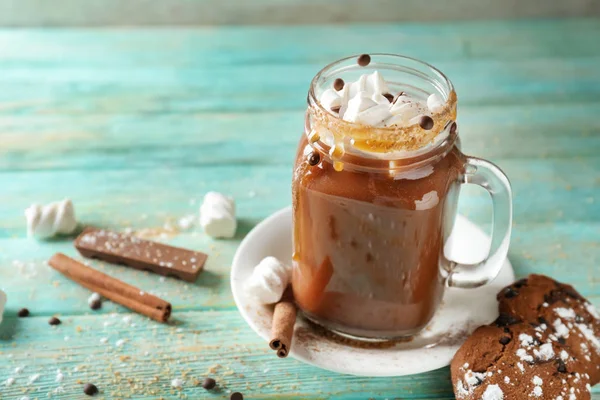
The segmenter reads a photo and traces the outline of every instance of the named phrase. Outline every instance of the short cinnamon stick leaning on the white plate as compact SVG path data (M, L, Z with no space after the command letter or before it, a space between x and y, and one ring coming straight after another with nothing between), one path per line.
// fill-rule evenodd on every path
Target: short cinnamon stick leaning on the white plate
M273 311L273 325L271 327L271 341L269 346L277 352L279 358L287 357L292 347L294 324L296 323L296 304L292 290L288 287L281 300L275 304Z

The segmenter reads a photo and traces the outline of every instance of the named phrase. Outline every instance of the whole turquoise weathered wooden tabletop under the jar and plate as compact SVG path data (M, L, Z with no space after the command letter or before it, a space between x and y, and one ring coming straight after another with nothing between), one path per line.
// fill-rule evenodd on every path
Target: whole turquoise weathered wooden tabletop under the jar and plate
M0 30L0 382L16 378L0 397L85 398L93 382L100 398L453 398L447 368L362 378L274 357L233 303L234 251L290 204L312 76L348 54L403 53L447 73L464 150L511 178L517 275L551 275L600 306L598 43L600 20ZM234 240L179 229L209 190L237 199ZM460 207L489 228L486 196L465 190ZM23 210L64 197L84 224L210 253L194 284L94 263L171 301L171 324L110 302L91 311L89 292L45 265L76 253L27 238ZM205 376L220 390L195 385Z

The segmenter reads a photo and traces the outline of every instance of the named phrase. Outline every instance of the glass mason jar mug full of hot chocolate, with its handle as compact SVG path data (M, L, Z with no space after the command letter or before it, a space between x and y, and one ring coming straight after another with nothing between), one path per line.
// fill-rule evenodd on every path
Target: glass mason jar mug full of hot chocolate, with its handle
M504 174L460 151L451 82L417 60L371 57L340 60L312 81L292 183L292 282L310 320L388 340L422 330L446 286L496 276L512 210ZM492 249L476 266L444 253L470 182L494 191Z

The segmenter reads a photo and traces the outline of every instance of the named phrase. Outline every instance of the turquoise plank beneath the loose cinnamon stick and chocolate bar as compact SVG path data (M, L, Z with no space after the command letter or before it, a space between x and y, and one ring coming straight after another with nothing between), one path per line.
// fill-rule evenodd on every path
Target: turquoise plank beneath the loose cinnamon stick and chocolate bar
M489 229L486 223L489 221L480 222ZM136 223L134 226L144 225ZM161 240L210 254L205 271L194 284L97 261L90 263L111 276L167 299L173 304L175 317L190 310L235 310L229 290L229 270L239 239L213 241L198 229ZM600 293L596 290L600 279L595 276L600 262L599 242L599 222L517 223L509 257L519 277L545 273L573 284L600 306ZM46 265L46 260L58 251L80 258L66 239L47 243L25 238L0 239L0 282L13 299L13 308L7 315L14 315L19 307L28 307L34 315L45 317L58 311L62 315L94 316L128 312L110 302L105 302L99 311L91 311L87 305L90 292ZM573 268L577 274L572 273ZM44 284L36 285L36 282Z

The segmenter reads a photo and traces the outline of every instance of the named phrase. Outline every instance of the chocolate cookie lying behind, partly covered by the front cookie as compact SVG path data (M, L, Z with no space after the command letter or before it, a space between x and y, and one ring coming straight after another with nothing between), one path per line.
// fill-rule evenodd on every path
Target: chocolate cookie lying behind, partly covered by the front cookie
M600 315L572 286L530 275L500 291L498 301L501 315L535 326L577 359L592 385L600 382Z

